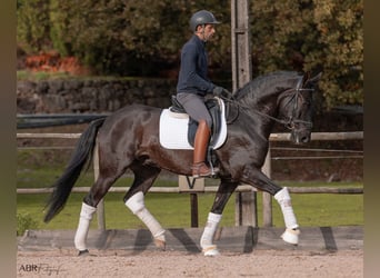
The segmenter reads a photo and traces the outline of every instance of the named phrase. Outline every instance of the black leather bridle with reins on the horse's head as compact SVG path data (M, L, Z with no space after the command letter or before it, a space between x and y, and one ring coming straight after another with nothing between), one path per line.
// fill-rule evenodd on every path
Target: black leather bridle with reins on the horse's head
M301 91L313 91L314 90L314 89L302 88L302 86L303 86L303 77L301 77L298 80L296 88L291 88L291 89L286 90L284 92L282 92L281 97L277 101L278 105L279 105L279 102L281 102L281 100L283 98L290 96L290 99L289 99L288 103L293 101L293 110L292 110L292 116L289 117L288 119L279 119L279 118L272 117L270 115L263 113L263 112L261 112L261 111L259 111L257 109L252 110L251 108L239 103L233 98L233 96L232 96L231 99L223 98L224 101L228 101L231 105L237 106L237 108L238 108L238 112L237 112L236 117L233 117L232 120L228 121L228 123L233 122L239 117L239 111L241 109L246 113L248 113L246 110L253 111L253 112L256 112L256 113L258 113L258 115L260 115L262 117L266 117L266 118L271 119L271 120L273 120L276 122L279 122L279 123L283 125L286 128L288 128L289 130L294 130L297 128L297 126L300 125L300 123L304 126L304 128L302 128L302 129L311 129L312 128L312 122L311 121L304 121L304 120L301 120L301 119L298 119L298 118L294 117L294 115L297 112L297 109L298 109L298 99L299 98L303 99L303 96L302 96Z

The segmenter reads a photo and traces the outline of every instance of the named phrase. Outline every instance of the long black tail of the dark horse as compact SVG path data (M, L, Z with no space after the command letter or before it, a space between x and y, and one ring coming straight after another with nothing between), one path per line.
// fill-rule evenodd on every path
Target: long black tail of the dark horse
M106 118L92 121L79 138L70 162L66 167L61 177L51 186L53 191L47 202L49 207L43 221L49 222L64 207L71 189L78 180L84 165L92 158L93 148L99 128L103 125Z

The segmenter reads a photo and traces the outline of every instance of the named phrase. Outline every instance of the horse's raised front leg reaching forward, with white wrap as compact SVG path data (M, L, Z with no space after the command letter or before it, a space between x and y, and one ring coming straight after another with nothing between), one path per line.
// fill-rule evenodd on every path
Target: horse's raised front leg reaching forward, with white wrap
M261 170L257 168L244 171L242 181L262 191L269 192L274 197L274 199L281 207L283 220L287 227L281 238L288 244L298 245L300 230L299 225L297 224L293 208L291 206L291 198L288 188L282 188L276 185Z

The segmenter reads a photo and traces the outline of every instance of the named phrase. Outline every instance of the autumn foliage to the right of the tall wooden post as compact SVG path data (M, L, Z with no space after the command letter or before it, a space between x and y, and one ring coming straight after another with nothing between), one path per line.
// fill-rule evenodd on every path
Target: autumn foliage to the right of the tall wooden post
M257 75L322 71L327 109L363 103L362 0L258 0L252 14Z

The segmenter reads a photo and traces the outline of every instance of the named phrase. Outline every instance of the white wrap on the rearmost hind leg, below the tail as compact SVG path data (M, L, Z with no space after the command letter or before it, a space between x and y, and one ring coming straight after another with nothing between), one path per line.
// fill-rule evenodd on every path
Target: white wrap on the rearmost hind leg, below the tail
M97 211L97 208L82 202L82 209L80 211L79 224L78 224L76 238L74 238L76 248L80 251L83 251L87 249L86 238L90 229L90 222L91 222L92 216L96 211Z

